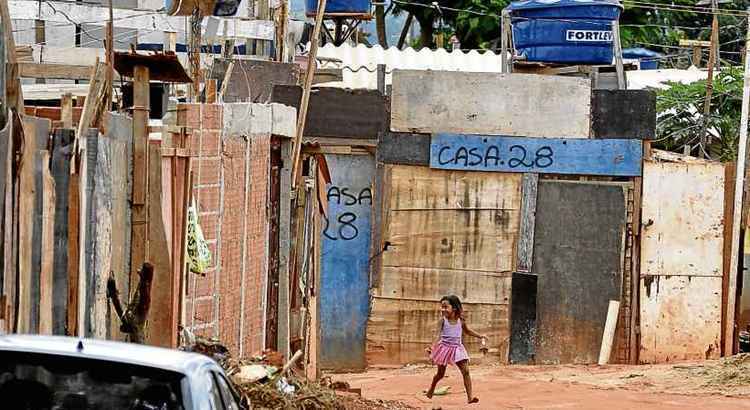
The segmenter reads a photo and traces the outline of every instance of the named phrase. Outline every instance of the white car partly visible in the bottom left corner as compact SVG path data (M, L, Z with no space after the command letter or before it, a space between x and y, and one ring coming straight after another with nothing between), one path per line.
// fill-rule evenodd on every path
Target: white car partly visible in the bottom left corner
M238 410L224 370L197 353L61 336L0 335L0 407Z

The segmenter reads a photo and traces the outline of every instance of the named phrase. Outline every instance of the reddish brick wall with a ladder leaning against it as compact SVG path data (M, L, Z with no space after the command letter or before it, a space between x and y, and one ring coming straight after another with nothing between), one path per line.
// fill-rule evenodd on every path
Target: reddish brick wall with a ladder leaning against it
M193 195L213 256L205 277L189 276L187 325L249 356L264 338L270 136L221 135L218 104L181 104L177 121L192 130Z

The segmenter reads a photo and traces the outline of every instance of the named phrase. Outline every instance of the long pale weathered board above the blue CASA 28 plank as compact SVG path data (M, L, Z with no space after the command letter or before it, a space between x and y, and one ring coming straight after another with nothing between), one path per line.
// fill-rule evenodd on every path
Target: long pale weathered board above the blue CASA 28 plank
M591 85L581 78L393 73L392 131L587 138L590 118Z

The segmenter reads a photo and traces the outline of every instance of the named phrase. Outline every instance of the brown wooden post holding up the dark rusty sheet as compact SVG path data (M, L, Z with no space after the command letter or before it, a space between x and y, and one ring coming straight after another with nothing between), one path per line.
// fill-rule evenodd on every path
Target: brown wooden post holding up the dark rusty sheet
M137 269L148 261L148 114L149 71L135 66L133 79L133 192L130 283L138 282Z

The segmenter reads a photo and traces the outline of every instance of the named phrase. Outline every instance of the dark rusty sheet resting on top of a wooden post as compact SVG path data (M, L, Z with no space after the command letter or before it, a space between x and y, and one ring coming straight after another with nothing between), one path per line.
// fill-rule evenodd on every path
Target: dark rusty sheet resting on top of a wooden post
M152 55L115 52L115 70L123 77L133 77L135 66L148 67L151 81L167 83L192 83L175 53L157 53Z

